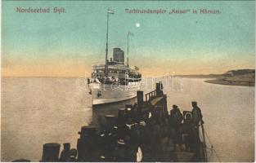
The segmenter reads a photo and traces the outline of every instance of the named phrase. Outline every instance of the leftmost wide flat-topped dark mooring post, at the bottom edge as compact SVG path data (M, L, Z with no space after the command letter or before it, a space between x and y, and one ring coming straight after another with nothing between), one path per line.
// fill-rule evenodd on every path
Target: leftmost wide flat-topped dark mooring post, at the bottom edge
M59 160L60 143L45 143L43 144L43 162L56 162Z

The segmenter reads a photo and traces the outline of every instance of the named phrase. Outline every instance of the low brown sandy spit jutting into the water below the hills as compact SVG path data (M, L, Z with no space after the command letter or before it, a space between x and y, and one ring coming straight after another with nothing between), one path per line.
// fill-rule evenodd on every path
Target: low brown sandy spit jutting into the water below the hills
M210 84L228 85L228 86L255 86L254 82L249 81L227 81L223 78L204 81Z

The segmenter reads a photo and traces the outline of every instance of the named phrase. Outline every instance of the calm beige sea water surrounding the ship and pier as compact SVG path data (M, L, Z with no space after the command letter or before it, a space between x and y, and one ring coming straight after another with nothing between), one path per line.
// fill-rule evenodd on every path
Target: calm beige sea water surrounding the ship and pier
M191 110L191 101L198 101L210 143L221 161L254 161L254 87L213 85L204 79L182 79L174 85L171 80L168 84L166 79L162 81L168 108L177 104ZM154 82L143 81L143 90L151 90ZM75 148L81 126L97 126L106 113L135 101L101 106L92 112L92 99L85 89L76 78L2 78L2 161L39 161L43 143L70 142ZM218 161L216 156L210 157L210 161Z

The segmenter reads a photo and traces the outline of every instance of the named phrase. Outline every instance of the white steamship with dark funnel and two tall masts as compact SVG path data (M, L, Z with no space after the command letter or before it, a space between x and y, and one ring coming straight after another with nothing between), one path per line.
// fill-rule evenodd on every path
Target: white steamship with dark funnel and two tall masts
M92 77L88 78L89 94L92 95L92 105L109 104L137 96L141 89L141 73L137 66L124 63L124 51L118 47L113 49L113 58L108 59L108 30L109 15L114 11L107 11L106 32L106 62L92 65ZM128 32L127 41L132 33ZM127 43L128 43L127 42Z

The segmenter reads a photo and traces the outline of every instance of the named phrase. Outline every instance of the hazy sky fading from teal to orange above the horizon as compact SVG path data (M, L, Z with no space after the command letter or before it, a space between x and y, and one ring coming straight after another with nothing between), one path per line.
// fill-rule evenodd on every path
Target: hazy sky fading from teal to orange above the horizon
M66 13L17 13L16 7L64 7ZM104 63L109 43L126 52L144 76L224 73L254 68L255 2L12 1L2 2L2 75L83 77ZM200 9L221 14L128 14L125 9ZM140 24L139 27L136 24Z

